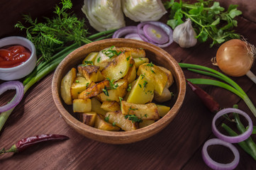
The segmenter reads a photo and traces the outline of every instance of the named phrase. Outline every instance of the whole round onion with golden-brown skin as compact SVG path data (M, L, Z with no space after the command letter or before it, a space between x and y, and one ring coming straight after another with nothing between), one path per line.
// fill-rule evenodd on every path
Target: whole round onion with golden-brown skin
M252 67L253 60L250 45L238 39L223 43L216 54L218 67L232 77L244 76Z

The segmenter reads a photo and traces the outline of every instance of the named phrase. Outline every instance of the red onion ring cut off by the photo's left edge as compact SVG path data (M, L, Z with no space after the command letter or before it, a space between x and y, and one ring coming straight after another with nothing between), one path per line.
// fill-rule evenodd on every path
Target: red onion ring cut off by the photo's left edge
M16 89L16 95L13 99L4 106L0 107L0 113L9 111L11 108L14 108L21 102L21 99L24 95L24 86L20 81L6 81L3 84L0 84L0 95L4 94L7 90Z

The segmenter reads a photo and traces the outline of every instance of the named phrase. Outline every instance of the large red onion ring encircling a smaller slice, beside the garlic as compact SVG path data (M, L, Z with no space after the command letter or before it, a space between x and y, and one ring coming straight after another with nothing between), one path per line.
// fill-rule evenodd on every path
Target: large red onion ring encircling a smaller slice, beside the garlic
M145 24L152 24L154 26L158 26L158 27L162 28L162 30L165 30L165 33L167 33L167 35L169 37L169 41L166 42L165 44L157 44L155 42L148 40L148 38L145 37L145 34L143 32L143 26L145 26ZM151 44L157 45L158 47L168 47L173 42L172 29L169 28L169 26L167 26L165 23L161 23L158 21L148 21L148 22L139 23L137 28L138 28L138 34L140 35L140 38L143 39L145 42L150 42Z

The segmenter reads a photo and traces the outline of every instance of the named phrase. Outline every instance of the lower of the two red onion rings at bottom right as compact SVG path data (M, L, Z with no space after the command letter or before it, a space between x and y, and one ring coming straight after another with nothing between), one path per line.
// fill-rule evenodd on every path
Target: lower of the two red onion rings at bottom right
M211 157L209 156L208 152L207 152L207 147L211 146L211 145L223 145L225 147L228 147L234 154L235 158L233 160L233 162L230 162L228 164L221 164L218 162L213 161L213 159L211 159ZM211 168L211 169L219 169L219 170L228 170L228 169L235 169L236 166L238 166L239 163L239 152L238 149L236 149L234 147L234 145L225 142L223 140L217 139L217 138L213 138L211 140L208 140L204 143L204 147L202 149L202 157L204 159L204 162Z

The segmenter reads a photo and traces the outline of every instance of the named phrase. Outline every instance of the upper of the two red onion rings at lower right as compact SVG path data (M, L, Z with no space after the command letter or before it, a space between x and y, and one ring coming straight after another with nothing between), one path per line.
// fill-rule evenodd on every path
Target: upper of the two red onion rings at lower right
M243 134L238 136L231 137L223 135L221 132L217 130L215 122L219 117L221 117L221 115L225 115L226 113L238 113L240 115L243 115L248 121L248 129ZM249 115L247 115L245 112L241 111L238 108L224 108L223 110L216 113L216 115L214 116L211 128L213 130L213 134L216 135L216 137L218 137L219 139L225 142L238 143L246 140L252 134L252 120L250 119Z

